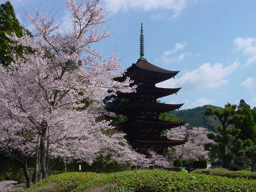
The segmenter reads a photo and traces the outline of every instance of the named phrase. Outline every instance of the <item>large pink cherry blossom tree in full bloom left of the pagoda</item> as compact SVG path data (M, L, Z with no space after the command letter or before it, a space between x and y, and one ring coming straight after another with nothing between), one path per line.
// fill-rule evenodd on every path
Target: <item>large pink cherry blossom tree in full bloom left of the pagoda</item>
M122 76L115 53L105 60L92 48L110 36L100 27L106 24L106 9L99 0L86 4L66 0L73 19L71 28L62 31L50 14L40 11L33 18L26 14L36 30L33 37L6 34L24 46L24 54L13 54L8 68L0 67L0 147L22 163L30 186L26 160L40 160L42 177L48 176L50 157L76 158L92 163L104 138L101 130L112 128L109 122L96 121L102 99L116 92L131 92L129 79ZM30 49L26 52L26 49ZM114 146L113 146L114 147ZM34 177L38 173L35 164ZM34 180L36 180L34 178Z

